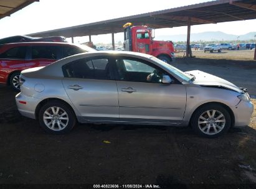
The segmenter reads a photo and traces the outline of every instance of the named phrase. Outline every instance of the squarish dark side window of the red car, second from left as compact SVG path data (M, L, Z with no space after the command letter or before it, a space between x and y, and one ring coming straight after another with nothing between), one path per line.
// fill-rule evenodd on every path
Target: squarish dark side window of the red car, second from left
M31 57L32 59L57 59L57 46L32 46Z

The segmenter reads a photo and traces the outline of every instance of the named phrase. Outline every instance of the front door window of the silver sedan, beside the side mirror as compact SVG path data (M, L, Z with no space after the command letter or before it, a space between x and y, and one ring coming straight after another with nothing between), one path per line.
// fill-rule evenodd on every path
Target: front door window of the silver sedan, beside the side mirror
M119 58L115 61L119 80L147 83L161 83L166 73L143 60Z

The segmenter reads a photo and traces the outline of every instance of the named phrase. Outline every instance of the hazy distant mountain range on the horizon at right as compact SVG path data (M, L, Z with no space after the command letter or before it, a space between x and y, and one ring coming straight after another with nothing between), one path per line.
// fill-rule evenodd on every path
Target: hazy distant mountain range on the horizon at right
M191 34L191 41L211 41L211 40L250 40L256 39L256 32L250 32L244 35L232 35L225 34L224 32L201 32L197 34ZM158 35L155 40L172 40L173 42L186 41L187 35Z

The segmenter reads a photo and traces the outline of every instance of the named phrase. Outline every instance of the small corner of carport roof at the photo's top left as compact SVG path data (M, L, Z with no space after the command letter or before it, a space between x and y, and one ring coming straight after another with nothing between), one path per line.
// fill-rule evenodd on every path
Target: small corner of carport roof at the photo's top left
M0 0L0 19L11 16L14 12L23 9L29 4L39 0Z

